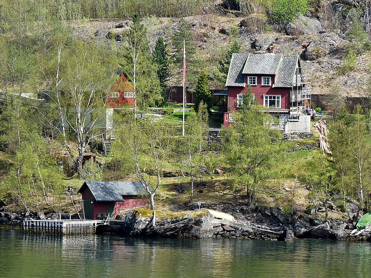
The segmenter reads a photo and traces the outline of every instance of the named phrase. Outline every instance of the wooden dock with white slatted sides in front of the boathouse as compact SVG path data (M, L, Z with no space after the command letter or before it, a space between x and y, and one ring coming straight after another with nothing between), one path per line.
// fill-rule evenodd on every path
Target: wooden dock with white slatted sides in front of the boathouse
M103 220L24 220L25 233L41 234L93 234L98 225L108 225Z

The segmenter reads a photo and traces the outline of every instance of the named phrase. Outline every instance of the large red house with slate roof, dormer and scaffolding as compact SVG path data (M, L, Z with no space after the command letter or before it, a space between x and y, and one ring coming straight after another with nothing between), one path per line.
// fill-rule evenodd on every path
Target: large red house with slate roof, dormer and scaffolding
M228 112L224 113L224 126L229 127L231 112L237 111L248 85L272 116L295 118L293 115L302 114L310 102L310 78L302 73L299 55L233 53L226 82Z

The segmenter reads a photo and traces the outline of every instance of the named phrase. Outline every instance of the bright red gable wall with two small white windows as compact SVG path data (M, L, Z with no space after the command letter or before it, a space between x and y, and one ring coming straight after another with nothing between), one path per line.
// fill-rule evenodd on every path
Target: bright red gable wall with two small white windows
M109 89L107 107L134 108L134 88L122 73Z

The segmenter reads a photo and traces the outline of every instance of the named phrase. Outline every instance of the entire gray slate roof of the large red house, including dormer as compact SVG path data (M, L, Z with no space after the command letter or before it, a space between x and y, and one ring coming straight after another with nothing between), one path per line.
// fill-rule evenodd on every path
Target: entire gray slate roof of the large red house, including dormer
M298 55L233 53L226 86L245 86L245 75L276 75L274 87L291 87Z

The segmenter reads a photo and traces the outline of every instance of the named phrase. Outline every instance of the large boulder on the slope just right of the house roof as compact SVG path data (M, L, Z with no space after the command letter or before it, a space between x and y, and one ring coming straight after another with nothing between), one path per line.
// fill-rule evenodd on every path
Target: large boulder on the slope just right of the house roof
M304 58L313 61L325 57L334 52L342 43L343 40L335 33L324 34L309 43L304 52Z

